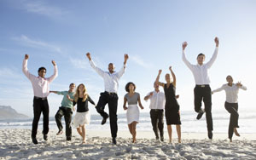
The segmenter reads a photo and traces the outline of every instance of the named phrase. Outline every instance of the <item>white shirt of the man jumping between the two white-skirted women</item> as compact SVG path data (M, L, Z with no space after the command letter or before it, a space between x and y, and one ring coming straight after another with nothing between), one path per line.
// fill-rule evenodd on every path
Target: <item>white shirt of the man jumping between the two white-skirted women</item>
M104 80L105 91L110 93L116 93L119 88L119 78L125 73L125 65L119 72L110 73L109 71L102 71L98 68L93 60L90 60L90 66L101 76Z

